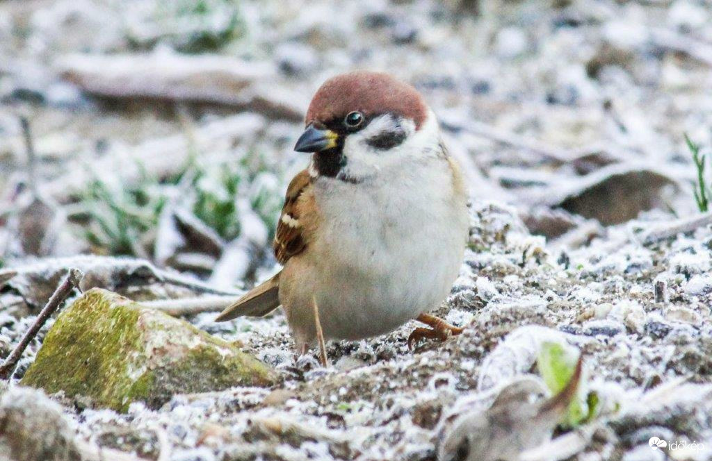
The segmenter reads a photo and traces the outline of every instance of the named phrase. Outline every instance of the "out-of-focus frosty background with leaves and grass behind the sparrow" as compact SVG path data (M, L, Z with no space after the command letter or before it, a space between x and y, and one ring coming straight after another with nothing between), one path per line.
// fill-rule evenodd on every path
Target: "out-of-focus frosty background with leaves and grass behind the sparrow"
M423 92L473 199L510 203L550 245L706 211L710 6L0 1L0 265L266 276L310 96L356 68Z

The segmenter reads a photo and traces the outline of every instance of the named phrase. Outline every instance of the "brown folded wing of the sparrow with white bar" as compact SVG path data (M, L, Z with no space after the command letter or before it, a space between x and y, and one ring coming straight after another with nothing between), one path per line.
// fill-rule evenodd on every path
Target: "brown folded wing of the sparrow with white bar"
M274 236L274 255L280 264L286 263L289 258L301 253L306 248L303 236L303 226L299 221L298 198L311 186L309 172L300 171L289 183L287 195L284 199L282 214L277 224L277 233Z

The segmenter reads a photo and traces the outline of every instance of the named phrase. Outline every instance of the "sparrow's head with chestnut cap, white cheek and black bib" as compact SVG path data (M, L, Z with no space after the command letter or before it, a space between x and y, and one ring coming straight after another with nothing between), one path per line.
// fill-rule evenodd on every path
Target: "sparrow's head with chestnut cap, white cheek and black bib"
M316 92L294 149L313 152L313 176L360 183L409 157L434 155L434 118L411 85L385 73L345 73Z

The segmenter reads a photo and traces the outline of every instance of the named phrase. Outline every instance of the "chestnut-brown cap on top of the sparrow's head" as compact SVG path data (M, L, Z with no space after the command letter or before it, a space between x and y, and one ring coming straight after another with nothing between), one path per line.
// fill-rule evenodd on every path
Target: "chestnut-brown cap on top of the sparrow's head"
M393 113L413 120L419 129L427 117L427 105L418 90L387 73L357 70L326 80L307 110L307 124L342 120L357 111L365 117Z

